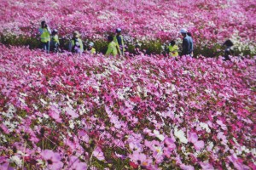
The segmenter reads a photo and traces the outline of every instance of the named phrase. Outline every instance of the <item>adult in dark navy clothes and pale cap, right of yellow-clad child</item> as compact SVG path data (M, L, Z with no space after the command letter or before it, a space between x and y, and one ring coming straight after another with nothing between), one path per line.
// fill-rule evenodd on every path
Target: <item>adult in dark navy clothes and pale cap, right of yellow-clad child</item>
M193 53L193 39L192 37L189 37L188 36L188 31L183 28L181 29L180 33L182 34L183 36L183 50L182 50L182 53L181 53L181 56L183 55L189 55L191 56L192 53Z

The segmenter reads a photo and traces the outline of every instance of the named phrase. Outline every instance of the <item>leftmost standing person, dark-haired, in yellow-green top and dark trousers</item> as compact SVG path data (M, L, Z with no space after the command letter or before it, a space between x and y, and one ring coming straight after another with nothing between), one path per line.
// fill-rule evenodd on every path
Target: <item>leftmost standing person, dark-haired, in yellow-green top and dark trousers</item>
M41 46L42 48L49 53L49 42L50 42L50 34L51 31L49 26L46 25L45 21L41 22L41 27L39 28L40 39L41 39Z

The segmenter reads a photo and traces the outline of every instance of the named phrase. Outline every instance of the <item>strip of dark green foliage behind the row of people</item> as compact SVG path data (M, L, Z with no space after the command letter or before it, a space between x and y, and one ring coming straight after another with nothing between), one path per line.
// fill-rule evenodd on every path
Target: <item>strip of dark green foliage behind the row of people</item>
M94 48L96 48L97 53L105 54L108 49L108 41L103 39L83 39L84 41L84 49L87 48L89 42L94 42ZM12 46L28 46L29 48L40 48L40 41L38 37L26 37L26 36L16 36L16 35L10 35L5 36L1 35L0 42L6 45L12 45ZM149 40L149 41L136 41L140 44L138 48L145 53L145 54L167 54L168 48L167 44L164 42L161 42L161 40ZM60 38L60 47L62 49L67 50L68 49L69 40L65 38ZM131 54L135 53L136 44L134 43L125 43L126 45L126 52L129 52ZM181 47L180 47L181 50ZM180 54L181 51L179 51ZM216 57L219 55L224 54L224 47L221 46L221 44L216 43L212 46L204 46L204 47L197 47L195 46L194 49L194 56L203 55L207 57ZM253 51L250 50L250 48L243 48L242 51L240 48L234 48L234 55L249 55L253 56Z

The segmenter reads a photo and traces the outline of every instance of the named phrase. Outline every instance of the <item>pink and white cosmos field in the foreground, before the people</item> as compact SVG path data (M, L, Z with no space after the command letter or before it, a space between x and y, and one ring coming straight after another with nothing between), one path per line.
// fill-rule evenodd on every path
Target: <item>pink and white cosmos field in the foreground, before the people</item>
M255 169L255 66L0 45L0 169Z

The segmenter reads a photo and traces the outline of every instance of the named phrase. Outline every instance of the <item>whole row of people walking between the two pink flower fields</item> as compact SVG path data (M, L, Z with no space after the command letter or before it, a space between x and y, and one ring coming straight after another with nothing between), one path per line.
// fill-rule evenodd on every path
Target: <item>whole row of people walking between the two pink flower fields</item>
M125 43L124 38L121 35L121 29L116 29L115 36L108 36L108 50L106 52L106 56L112 55L125 55ZM51 31L49 26L46 25L45 21L41 22L41 27L39 28L40 37L41 37L41 44L42 48L49 53L49 50L53 52L59 51L60 41L58 37L58 31L55 29ZM194 43L191 33L187 31L187 29L183 28L180 30L180 33L183 37L182 43L182 50L180 56L189 55L193 57L193 50L194 50ZM69 42L68 50L72 53L82 54L84 52L84 44L80 39L79 31L73 32L73 37ZM231 49L233 43L230 40L224 42L224 45L227 47L225 49L224 57L225 60L230 59L229 55L231 54ZM136 50L137 47L136 47ZM178 46L176 45L175 40L172 40L168 46L168 54L170 57L177 57L178 56ZM96 49L94 48L94 43L89 42L88 47L86 50L89 54L96 54ZM138 53L139 54L139 53Z

